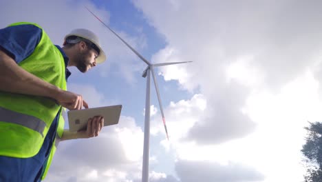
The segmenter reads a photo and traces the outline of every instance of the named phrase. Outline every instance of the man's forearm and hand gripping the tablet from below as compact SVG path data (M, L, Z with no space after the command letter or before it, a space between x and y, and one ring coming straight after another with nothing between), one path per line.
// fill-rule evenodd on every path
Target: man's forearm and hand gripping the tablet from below
M93 117L87 121L87 129L78 131L78 132L69 132L64 130L61 141L70 140L70 139L88 139L94 136L98 136L100 130L104 126L103 117Z

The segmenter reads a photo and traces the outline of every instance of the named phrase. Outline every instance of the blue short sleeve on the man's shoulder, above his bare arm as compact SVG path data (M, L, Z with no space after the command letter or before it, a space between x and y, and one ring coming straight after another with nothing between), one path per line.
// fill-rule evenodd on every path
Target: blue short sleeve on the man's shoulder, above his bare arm
M16 63L20 63L34 52L41 40L41 28L25 24L0 29L0 47Z

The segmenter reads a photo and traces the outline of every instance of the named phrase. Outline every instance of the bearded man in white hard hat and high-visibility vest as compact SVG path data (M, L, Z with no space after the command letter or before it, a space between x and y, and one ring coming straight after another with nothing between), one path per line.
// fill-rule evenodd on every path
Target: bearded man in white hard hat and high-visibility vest
M58 141L98 136L104 119L89 119L87 130L63 130L61 110L88 108L80 94L66 90L71 74L105 61L98 37L73 30L63 48L34 23L0 29L0 181L41 181Z

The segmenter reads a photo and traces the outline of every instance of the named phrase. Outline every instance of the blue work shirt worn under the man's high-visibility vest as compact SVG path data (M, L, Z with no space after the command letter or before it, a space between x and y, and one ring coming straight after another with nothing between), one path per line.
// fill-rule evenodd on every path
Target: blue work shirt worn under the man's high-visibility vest
M41 40L41 36L42 30L29 24L3 28L0 29L0 49L12 57L16 63L20 63L34 52L34 48L36 48L36 45ZM58 45L56 47L61 51L65 60L65 66L67 67L68 57L61 47ZM67 81L71 74L67 68L65 74ZM0 181L41 181L41 174L45 169L43 165L47 161L52 143L56 137L58 114L52 125L50 125L50 129L38 154L27 159L0 156Z

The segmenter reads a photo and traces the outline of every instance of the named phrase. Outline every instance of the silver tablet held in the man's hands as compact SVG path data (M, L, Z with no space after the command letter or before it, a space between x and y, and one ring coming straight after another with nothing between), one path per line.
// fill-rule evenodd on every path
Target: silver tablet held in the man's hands
M104 117L104 126L115 125L120 119L121 110L122 105L111 105L101 108L89 108L84 110L69 110L67 112L69 131L77 132L79 130L86 130L88 119L95 116Z

